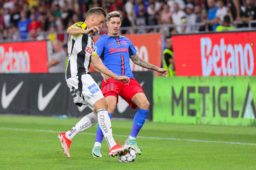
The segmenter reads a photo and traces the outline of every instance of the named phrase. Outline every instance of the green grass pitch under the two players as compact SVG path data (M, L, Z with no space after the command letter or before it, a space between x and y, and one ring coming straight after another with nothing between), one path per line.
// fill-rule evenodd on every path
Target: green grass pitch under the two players
M0 115L0 169L256 169L256 127L146 122L136 139L143 154L122 163L108 156L105 139L103 157L92 157L94 126L73 138L68 159L57 136L79 120ZM124 142L132 121L111 122Z

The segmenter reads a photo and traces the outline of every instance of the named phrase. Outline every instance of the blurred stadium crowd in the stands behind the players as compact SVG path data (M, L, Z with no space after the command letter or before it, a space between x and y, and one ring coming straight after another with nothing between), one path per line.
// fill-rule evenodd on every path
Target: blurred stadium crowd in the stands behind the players
M51 32L47 34L48 39L65 42L67 34L61 30L84 21L86 11L92 7L102 7L107 13L119 11L123 16L122 27L204 23L209 30L215 31L223 21L223 26L229 29L230 23L255 20L255 5L255 0L2 0L0 39L42 40L46 38L43 32L48 31ZM204 25L168 27L166 32L204 31ZM103 27L107 27L106 24ZM147 32L151 31L153 29L147 29ZM141 33L140 30L133 32ZM130 30L123 30L124 33L130 33Z

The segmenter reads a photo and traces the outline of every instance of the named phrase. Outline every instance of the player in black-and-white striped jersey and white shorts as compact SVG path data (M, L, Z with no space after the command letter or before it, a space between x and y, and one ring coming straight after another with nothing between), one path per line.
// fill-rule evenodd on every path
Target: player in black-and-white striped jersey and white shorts
M94 50L93 33L99 33L99 28L106 18L106 11L102 8L92 8L87 12L86 20L70 26L67 30L68 38L68 66L66 70L66 81L70 92L77 106L90 107L93 112L84 116L74 127L64 133L60 133L58 138L61 143L63 153L70 158L69 147L72 138L86 129L91 128L99 122L100 128L107 140L109 156L116 156L126 152L131 145L120 146L119 141L114 141L112 128L108 116L108 104L100 91L97 83L89 74L89 67L92 62L94 68L104 74L124 84L129 84L126 76L117 76L109 71L100 61L99 55Z

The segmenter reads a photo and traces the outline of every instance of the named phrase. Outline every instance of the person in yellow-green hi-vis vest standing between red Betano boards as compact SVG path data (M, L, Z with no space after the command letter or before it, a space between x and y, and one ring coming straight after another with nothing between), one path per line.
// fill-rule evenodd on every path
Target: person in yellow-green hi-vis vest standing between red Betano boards
M167 76L175 76L176 73L174 68L172 37L170 36L166 37L165 43L167 48L164 49L163 56L162 56L163 68L165 68L168 71Z

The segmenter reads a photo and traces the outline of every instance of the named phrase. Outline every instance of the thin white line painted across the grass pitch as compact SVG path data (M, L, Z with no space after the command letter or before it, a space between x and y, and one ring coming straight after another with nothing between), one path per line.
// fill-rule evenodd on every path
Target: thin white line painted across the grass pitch
M48 133L62 133L63 131L54 131L54 130L41 130L41 129L15 129L15 128L4 128L0 127L2 130L15 130L15 131L33 131L33 132L48 132ZM86 133L84 135L96 135L96 133ZM127 137L125 135L113 135L116 137ZM190 141L190 142L206 142L206 143L221 143L221 144L243 144L243 145L256 145L249 143L240 143L240 142L222 142L222 141L205 141L205 140L195 140L195 139L177 139L177 138L162 138L162 137L137 137L143 139L157 139L157 140L178 140L178 141Z

